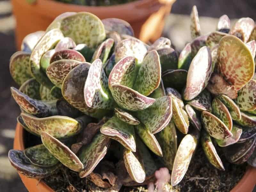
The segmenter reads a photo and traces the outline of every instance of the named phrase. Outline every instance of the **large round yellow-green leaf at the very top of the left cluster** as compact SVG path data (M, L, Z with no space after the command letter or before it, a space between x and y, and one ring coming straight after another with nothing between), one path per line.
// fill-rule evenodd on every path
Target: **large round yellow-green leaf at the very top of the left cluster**
M97 47L106 38L103 23L89 12L71 13L56 18L46 31L52 28L59 28L65 37L70 37L76 44L87 44L90 48Z

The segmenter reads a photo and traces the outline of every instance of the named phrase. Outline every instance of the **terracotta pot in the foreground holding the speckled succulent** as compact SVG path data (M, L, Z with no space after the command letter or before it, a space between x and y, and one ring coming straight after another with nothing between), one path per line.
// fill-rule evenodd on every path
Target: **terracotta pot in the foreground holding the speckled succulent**
M14 149L24 150L23 130L24 129L22 128L22 126L18 123L16 126L13 144ZM36 179L29 179L21 174L19 175L29 192L54 192L43 181L39 182ZM246 172L244 173L244 176L231 190L231 192L251 192L256 184L255 178L256 168L248 166Z

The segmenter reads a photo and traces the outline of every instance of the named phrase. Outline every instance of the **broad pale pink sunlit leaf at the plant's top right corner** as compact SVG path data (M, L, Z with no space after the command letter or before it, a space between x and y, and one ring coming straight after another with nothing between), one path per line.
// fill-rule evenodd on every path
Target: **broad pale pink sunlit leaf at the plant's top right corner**
M233 25L229 33L231 35L237 36L245 43L248 41L254 28L254 25L254 20L252 20L249 17L243 17L236 21L236 23Z

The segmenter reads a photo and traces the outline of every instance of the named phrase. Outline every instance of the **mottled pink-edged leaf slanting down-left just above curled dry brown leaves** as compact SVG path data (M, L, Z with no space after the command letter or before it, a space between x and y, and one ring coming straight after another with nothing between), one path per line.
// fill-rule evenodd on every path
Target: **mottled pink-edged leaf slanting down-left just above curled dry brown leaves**
M79 172L79 177L84 178L94 170L106 155L109 145L110 138L98 133L88 145L80 149L79 159L84 164L84 169Z

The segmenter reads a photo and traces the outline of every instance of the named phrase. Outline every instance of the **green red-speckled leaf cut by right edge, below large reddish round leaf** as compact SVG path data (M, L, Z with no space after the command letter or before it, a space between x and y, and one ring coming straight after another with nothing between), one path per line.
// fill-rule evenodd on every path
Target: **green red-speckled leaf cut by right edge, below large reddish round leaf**
M243 111L256 109L256 80L251 79L242 89L238 91L236 104Z

